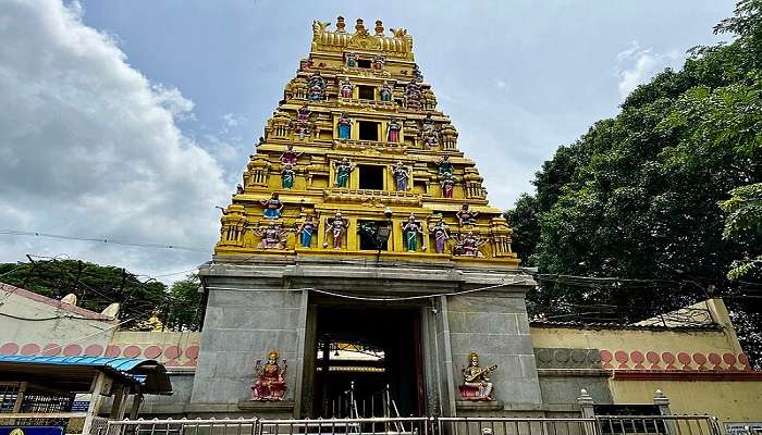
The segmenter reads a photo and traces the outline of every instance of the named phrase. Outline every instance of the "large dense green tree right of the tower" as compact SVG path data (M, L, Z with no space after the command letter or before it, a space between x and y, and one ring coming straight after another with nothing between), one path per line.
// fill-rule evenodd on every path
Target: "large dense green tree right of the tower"
M591 307L607 304L634 321L720 294L759 363L752 294L762 284L727 273L758 258L762 237L751 224L723 237L739 202L718 204L745 195L747 215L760 210L742 186L762 182L762 0L739 2L715 32L735 39L696 48L680 71L635 89L618 115L561 147L537 173L536 194L506 212L516 251L540 271L534 313L598 315Z

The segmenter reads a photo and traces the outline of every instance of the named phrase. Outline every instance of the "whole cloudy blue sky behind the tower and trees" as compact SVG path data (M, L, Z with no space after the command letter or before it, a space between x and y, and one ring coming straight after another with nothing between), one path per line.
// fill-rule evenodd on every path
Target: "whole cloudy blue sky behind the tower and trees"
M308 54L312 20L407 28L460 150L507 209L558 146L717 42L733 7L0 0L0 262L82 259L171 282L208 261L214 207Z

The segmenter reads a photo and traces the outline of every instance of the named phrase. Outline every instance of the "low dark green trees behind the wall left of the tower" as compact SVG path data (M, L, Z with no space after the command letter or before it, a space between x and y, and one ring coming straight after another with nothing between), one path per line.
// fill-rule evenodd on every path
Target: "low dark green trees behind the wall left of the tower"
M194 330L198 327L202 313L196 275L177 281L168 288L159 281L142 281L120 268L46 259L0 263L0 282L53 299L74 294L77 306L98 312L119 302L120 320L130 320L124 327L136 325L156 312L171 330Z

